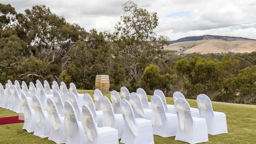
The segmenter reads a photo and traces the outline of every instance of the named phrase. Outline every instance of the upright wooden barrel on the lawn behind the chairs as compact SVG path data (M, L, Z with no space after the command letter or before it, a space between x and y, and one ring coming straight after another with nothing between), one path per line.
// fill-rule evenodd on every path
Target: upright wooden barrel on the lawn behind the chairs
M108 75L96 75L95 89L99 89L102 93L109 92L109 77L108 77Z

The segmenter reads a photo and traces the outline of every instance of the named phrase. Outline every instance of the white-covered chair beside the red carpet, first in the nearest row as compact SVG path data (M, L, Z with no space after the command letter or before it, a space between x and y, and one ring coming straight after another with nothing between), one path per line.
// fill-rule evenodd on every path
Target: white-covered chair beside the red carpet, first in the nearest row
M19 120L23 120L24 124L22 130L26 130L27 132L34 132L36 127L35 122L35 112L31 108L30 102L28 101L26 95L21 94L20 100L20 114Z

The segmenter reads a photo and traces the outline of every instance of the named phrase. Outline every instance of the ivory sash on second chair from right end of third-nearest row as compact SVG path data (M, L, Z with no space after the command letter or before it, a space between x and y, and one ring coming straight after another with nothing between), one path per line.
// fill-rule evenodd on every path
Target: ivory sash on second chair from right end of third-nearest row
M162 126L163 125L160 113L157 109L157 108L160 108L159 105L160 104L154 103L154 102L151 101L151 109L152 109L151 121L152 121L153 126L154 125L157 125L157 126Z

